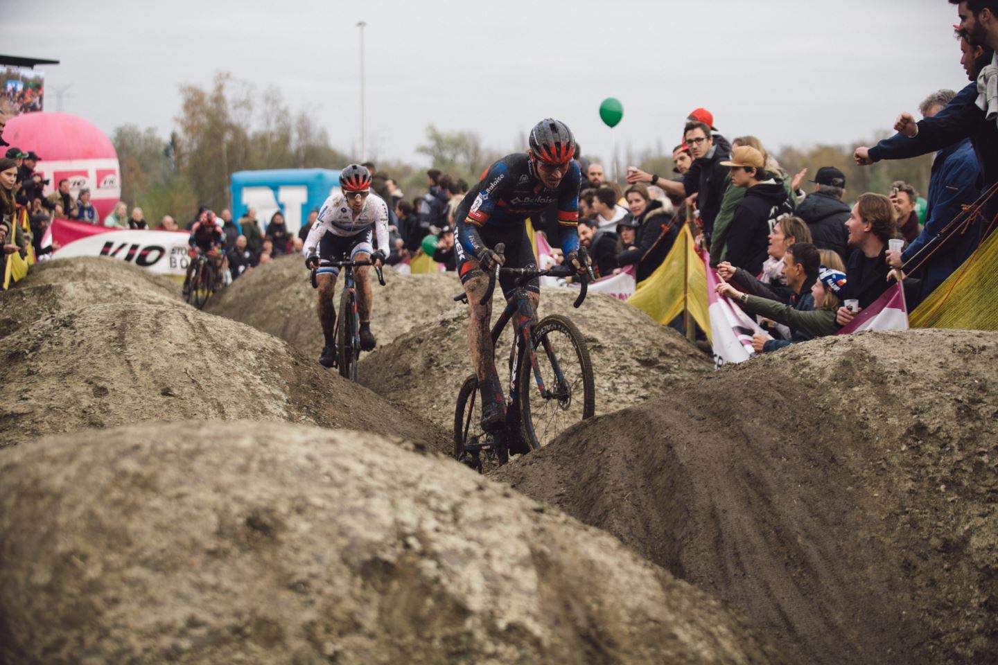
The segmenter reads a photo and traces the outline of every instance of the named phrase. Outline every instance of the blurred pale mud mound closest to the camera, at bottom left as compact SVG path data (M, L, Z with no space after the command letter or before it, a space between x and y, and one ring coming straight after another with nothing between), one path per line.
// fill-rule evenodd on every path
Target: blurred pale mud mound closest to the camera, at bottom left
M0 456L0 661L784 662L613 537L456 464L260 423Z

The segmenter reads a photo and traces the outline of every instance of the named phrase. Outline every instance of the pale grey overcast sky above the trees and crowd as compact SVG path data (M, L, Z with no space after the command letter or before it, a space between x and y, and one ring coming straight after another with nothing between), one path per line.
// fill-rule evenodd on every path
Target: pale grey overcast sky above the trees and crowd
M622 155L670 150L697 107L773 149L851 145L967 83L946 0L0 0L0 53L61 61L44 67L46 110L71 85L64 111L108 134L167 137L178 87L228 71L279 87L359 153L360 20L368 154L419 163L431 123L511 152L548 116L608 158L598 109L611 96Z

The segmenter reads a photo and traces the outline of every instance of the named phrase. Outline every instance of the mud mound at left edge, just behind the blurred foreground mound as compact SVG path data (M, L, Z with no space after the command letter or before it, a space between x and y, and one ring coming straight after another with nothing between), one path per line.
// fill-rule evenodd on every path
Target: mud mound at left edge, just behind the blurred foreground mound
M69 275L67 275L68 277ZM446 436L281 340L145 286L68 281L0 294L0 446L146 421L253 419ZM128 289L125 289L128 291ZM9 307L10 306L10 307ZM34 312L34 314L23 314Z

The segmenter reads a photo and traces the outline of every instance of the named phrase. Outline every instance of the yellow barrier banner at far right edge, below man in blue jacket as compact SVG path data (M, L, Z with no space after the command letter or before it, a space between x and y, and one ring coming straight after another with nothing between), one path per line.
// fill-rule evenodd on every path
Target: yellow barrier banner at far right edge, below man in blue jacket
M998 330L998 232L908 315L912 328Z

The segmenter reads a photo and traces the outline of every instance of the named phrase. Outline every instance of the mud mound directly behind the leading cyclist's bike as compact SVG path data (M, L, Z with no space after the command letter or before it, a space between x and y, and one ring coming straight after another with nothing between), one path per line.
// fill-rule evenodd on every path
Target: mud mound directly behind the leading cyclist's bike
M640 404L670 390L681 379L701 376L713 368L682 335L644 312L598 293L590 294L575 309L576 296L565 288L543 289L538 316L564 314L586 338L597 414ZM511 340L507 327L496 352L496 367L504 383L509 376ZM471 373L466 305L379 347L362 357L357 369L363 385L448 430L454 424L457 393Z

